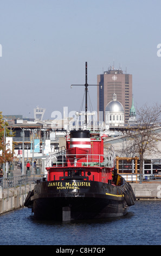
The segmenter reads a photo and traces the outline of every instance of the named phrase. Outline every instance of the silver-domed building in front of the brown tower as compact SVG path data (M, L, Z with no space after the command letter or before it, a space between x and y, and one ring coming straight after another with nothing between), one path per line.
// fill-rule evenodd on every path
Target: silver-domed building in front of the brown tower
M117 95L113 94L113 100L110 101L105 109L105 123L109 126L124 126L124 107L117 100Z

